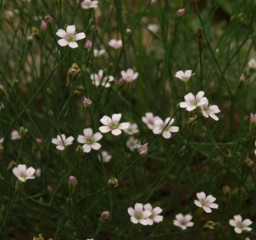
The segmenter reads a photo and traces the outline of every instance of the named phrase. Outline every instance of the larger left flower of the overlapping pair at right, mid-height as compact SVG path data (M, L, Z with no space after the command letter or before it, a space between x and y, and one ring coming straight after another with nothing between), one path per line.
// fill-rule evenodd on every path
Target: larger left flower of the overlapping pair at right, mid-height
M185 101L181 102L180 106L182 108L186 108L186 111L191 112L192 110L196 109L197 106L202 106L208 102L207 98L203 95L203 91L199 91L196 96L192 95L192 93L190 92L189 94L184 96Z

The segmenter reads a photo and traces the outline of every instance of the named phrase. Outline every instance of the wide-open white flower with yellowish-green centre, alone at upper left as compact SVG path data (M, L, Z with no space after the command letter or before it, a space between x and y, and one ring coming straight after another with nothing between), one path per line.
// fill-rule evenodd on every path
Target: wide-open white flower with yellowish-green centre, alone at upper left
M60 46L67 46L69 45L71 48L78 47L76 41L81 40L86 37L84 32L75 33L75 25L69 25L65 30L59 29L56 32L56 35L61 37L62 39L58 40L58 44Z

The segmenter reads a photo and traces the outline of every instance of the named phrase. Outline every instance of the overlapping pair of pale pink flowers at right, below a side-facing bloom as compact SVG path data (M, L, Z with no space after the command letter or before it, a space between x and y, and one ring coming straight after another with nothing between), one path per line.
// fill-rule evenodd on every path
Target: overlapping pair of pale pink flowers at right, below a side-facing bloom
M219 107L217 105L209 105L208 99L203 95L203 91L199 91L197 95L192 95L191 92L188 93L184 96L185 101L180 103L181 108L186 108L188 112L199 110L199 114L202 113L203 117L212 117L215 121L218 121L219 117L215 113L220 112Z

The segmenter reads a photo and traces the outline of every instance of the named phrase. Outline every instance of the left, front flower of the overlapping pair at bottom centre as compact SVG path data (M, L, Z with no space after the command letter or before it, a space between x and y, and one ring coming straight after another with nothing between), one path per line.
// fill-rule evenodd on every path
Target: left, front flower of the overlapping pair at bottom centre
M143 205L138 203L134 205L134 209L130 207L128 213L131 215L131 222L140 223L144 226L148 224L147 218L151 215L150 210L143 210Z

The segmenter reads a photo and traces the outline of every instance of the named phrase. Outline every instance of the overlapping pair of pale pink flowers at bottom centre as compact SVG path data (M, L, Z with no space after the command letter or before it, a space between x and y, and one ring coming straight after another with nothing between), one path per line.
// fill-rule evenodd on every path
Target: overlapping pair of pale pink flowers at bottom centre
M159 207L153 209L152 205L142 205L136 203L133 208L128 208L128 213L131 215L131 222L134 224L140 223L144 226L153 225L153 222L159 223L163 221L163 216L159 215L163 210Z

